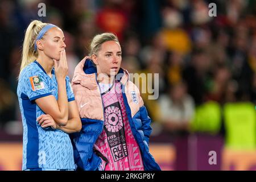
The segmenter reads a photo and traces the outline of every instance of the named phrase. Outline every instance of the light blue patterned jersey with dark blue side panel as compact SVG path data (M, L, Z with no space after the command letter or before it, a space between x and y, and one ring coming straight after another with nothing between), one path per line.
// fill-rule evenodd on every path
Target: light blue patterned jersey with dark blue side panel
M69 77L66 77L68 101L75 97ZM58 87L54 69L52 78L34 61L20 73L17 94L23 123L22 169L53 168L75 169L73 147L69 135L51 127L43 129L36 118L44 113L35 100L53 95L58 99Z

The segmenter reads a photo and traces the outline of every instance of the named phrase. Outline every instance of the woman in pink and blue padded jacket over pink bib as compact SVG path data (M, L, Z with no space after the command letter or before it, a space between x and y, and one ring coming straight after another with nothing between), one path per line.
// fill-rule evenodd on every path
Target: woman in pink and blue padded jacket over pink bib
M71 135L77 170L160 170L149 153L151 119L137 86L120 68L117 36L94 36L90 57L76 67L72 80L80 133Z

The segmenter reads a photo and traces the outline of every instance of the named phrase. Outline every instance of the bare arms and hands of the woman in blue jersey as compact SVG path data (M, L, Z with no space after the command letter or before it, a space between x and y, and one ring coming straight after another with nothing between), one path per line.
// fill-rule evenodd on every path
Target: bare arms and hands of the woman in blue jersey
M52 129L60 129L65 133L79 132L82 123L79 116L76 101L68 102L66 90L66 76L68 64L65 49L60 53L60 60L55 64L55 76L58 85L58 100L52 95L41 97L35 100L36 104L44 111L37 119L43 128L51 126Z

